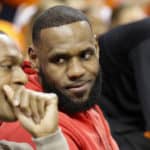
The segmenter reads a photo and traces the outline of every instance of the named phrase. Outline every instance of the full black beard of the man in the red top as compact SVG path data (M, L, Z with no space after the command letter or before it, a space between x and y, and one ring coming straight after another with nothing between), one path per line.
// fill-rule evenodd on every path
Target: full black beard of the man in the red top
M86 91L78 93L69 92L65 89L56 88L53 83L49 83L42 70L40 70L40 76L42 81L43 90L47 93L56 93L59 101L58 108L60 111L67 114L75 114L83 112L91 108L100 99L101 93L101 76L100 74L96 78L96 82L93 87L87 88Z

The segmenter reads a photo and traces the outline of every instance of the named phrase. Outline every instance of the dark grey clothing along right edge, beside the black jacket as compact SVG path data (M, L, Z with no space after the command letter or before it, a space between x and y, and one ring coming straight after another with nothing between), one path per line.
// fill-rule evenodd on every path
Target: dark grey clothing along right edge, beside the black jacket
M145 121L145 136L150 132L150 39L141 42L130 53L137 94ZM149 136L150 138L150 136Z

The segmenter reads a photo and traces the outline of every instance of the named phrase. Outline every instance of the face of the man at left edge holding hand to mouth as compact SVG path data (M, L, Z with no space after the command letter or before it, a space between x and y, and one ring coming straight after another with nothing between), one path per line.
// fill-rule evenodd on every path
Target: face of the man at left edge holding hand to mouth
M5 84L17 89L27 78L21 69L22 55L13 41L5 34L0 34L0 118L11 119L8 114L10 106L3 91Z

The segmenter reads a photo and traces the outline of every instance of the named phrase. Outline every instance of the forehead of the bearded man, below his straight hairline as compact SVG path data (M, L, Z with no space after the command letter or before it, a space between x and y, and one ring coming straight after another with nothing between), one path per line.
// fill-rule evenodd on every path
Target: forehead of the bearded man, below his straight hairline
M41 30L40 43L49 49L87 45L93 42L93 33L86 21L78 21ZM72 47L73 48L73 47Z

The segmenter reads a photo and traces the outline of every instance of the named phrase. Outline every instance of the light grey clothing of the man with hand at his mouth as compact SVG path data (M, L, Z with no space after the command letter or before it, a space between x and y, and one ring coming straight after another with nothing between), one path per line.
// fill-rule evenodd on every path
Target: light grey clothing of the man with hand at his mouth
M33 141L36 144L37 150L69 150L66 140L60 129L58 129L54 134L33 138ZM0 141L0 149L33 150L32 147L27 143L17 143L6 140Z

